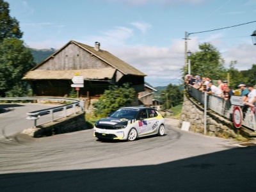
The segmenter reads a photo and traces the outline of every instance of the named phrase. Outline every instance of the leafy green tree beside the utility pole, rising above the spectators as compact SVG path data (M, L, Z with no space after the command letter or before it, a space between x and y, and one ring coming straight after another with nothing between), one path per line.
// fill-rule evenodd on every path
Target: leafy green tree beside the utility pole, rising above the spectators
M216 47L209 43L199 45L200 51L192 53L191 74L201 77L210 77L211 79L223 79L225 77L224 60ZM188 68L184 69L188 71Z

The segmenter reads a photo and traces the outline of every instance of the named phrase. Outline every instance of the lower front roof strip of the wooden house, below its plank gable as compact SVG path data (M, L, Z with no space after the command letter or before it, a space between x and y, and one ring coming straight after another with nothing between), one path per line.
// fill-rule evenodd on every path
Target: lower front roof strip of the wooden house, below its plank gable
M79 76L83 76L84 80L112 79L115 72L115 68L91 68L83 70L33 70L25 74L22 79L72 79L74 74L77 73L79 73Z

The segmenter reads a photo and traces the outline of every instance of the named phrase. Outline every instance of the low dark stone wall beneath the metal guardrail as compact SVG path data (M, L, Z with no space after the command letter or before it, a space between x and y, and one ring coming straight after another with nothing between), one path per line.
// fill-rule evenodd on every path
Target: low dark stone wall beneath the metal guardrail
M54 134L81 131L84 129L87 129L85 112L81 111L74 115L54 120L54 122L30 127L25 129L22 133L28 134L34 138L40 138L44 136L52 136Z

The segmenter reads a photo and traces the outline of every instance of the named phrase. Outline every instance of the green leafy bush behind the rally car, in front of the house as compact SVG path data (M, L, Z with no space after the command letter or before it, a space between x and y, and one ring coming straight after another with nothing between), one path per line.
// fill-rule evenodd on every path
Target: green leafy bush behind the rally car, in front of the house
M104 94L99 97L99 100L93 103L95 115L108 116L116 109L131 106L134 99L135 90L125 83L123 86L109 86L109 90L105 90Z

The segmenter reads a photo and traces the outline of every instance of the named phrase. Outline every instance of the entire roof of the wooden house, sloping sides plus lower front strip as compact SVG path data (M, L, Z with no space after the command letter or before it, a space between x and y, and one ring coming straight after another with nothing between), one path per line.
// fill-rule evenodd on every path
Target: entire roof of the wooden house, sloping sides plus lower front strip
M85 51L88 51L95 57L99 58L99 60L108 63L108 65L110 65L113 68L34 71L36 68L40 67L41 65L44 65L44 63L50 60L52 56L58 54L58 52L62 51L69 44L76 44L77 46L81 47L81 49L84 49ZM72 79L72 77L76 73L75 71L79 72L81 76L84 76L84 79L112 79L116 70L122 72L122 74L125 75L130 74L134 76L147 76L146 74L143 74L143 72L141 72L140 70L132 67L128 63L125 63L125 61L120 60L108 51L104 51L102 49L96 51L95 47L90 47L88 45L84 45L79 42L75 42L74 40L71 40L70 42L68 42L68 44L61 47L61 49L54 52L51 56L49 56L44 61L42 61L41 63L33 67L31 70L29 70L29 72L27 72L27 74L25 74L25 76L22 79L60 79L60 77L61 79Z

